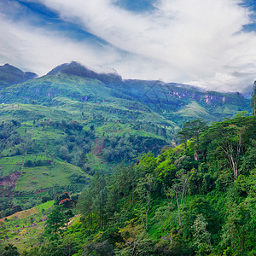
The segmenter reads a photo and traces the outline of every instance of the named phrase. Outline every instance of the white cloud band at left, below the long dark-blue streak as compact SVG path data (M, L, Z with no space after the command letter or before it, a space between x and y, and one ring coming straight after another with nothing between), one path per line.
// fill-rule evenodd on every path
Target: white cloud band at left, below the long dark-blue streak
M108 46L64 38L56 32L13 23L0 16L0 61L39 75L57 65L80 61L89 67L116 60L116 52ZM101 60L101 61L98 61Z

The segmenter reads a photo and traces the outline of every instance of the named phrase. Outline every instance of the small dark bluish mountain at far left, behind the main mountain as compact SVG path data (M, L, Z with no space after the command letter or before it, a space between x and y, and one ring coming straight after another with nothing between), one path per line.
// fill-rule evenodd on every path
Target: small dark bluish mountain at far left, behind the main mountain
M35 79L37 76L36 73L23 72L17 67L5 64L0 66L0 90L12 84L20 84Z

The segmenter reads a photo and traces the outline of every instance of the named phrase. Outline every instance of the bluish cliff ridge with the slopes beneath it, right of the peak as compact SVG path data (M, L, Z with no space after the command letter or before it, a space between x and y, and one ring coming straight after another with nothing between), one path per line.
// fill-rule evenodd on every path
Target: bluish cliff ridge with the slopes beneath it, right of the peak
M136 98L178 125L188 119L195 119L196 116L207 121L216 121L225 117L231 118L239 111L250 109L249 101L239 93L201 91L185 84L125 80L120 90L124 95ZM188 106L193 102L193 112L189 112Z

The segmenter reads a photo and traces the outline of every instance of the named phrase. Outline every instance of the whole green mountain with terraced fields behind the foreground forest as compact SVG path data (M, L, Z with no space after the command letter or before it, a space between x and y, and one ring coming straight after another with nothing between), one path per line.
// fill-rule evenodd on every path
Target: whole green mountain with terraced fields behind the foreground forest
M122 79L77 62L37 79L3 67L2 77L31 79L0 90L0 217L63 190L77 193L92 175L112 173L121 162L160 154L178 143L185 121L218 121L249 110L238 93Z

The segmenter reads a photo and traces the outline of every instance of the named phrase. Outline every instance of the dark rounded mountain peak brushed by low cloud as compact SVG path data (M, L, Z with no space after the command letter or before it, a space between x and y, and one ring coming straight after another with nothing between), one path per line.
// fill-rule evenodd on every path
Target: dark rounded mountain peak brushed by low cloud
M98 79L104 84L119 84L122 81L121 76L113 69L108 69L106 72L106 69L100 67L98 71L93 71L77 61L61 64L52 69L47 75L55 75L57 73L66 73L87 79Z

